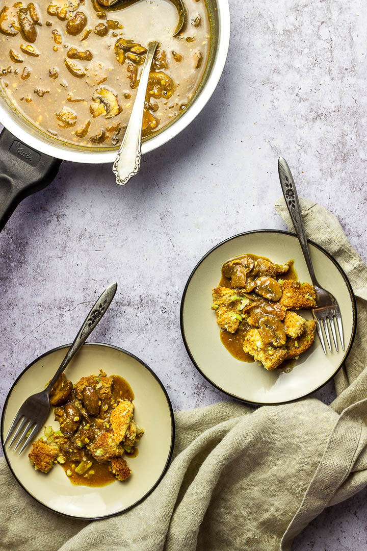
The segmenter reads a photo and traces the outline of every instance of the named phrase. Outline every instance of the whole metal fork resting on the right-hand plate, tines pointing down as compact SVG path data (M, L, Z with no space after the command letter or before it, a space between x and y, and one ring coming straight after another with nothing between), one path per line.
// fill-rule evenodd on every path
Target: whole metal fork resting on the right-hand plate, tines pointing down
M338 302L331 293L326 289L323 289L319 282L317 282L314 267L311 262L310 251L308 248L307 237L305 234L305 229L303 225L302 213L299 206L297 190L294 185L293 176L291 170L289 169L288 163L283 157L280 157L278 160L278 172L281 181L282 191L284 199L286 199L286 204L291 215L291 219L294 225L295 233L298 237L299 244L301 246L303 256L308 267L308 271L311 277L311 281L316 289L317 296L317 308L312 310L312 314L316 323L317 333L319 334L320 342L324 353L326 354L326 346L324 340L324 334L322 333L322 326L324 326L324 332L328 347L330 352L331 348L331 339L328 326L330 326L331 333L333 336L333 341L335 344L335 349L338 352L338 340L336 336L336 326L337 323L339 338L344 350L344 336L343 336L343 323L342 316L340 313ZM322 326L321 326L322 322ZM328 322L328 323L327 323Z

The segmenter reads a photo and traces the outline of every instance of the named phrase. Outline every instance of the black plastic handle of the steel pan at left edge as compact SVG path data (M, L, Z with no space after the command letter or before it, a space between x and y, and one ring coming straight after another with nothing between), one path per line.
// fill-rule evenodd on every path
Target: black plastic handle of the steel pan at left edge
M0 134L0 231L25 197L57 175L61 159L31 149L6 128Z

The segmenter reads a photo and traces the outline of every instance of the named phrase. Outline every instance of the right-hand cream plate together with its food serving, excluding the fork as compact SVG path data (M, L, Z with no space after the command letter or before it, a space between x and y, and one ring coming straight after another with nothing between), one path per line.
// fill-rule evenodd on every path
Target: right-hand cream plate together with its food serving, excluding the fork
M184 345L196 369L229 396L291 402L325 385L347 357L356 323L352 289L331 255L308 244L318 282L336 297L343 317L345 347L339 343L326 355L316 335L318 295L294 234L235 235L191 272L180 308Z

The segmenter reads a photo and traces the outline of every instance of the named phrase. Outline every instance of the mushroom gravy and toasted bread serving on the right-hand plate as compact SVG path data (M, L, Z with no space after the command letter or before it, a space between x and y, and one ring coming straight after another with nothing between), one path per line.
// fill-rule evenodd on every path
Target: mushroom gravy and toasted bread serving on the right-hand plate
M315 322L297 311L316 307L315 288L297 281L293 261L280 265L252 254L232 258L224 262L212 294L221 341L239 360L257 360L273 370L298 360L314 343Z

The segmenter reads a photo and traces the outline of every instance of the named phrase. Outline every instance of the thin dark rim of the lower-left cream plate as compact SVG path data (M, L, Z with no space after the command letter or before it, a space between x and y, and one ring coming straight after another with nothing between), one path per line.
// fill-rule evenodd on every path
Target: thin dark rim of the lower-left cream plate
M128 352L128 350L124 350L123 348L119 348L117 346L114 346L112 344L106 344L106 343L97 343L97 342L86 342L83 344L83 347L84 346L89 346L89 345L97 345L97 346L101 346L101 347L107 347L107 348L113 348L114 350L118 350L118 352L122 352L124 354L127 354L128 356L131 356L132 358L134 358L134 360L138 361L141 365L143 365L148 371L150 371L151 375L154 376L154 378L156 379L156 381L159 383L160 387L162 388L162 391L166 397L166 400L167 400L167 404L168 404L168 408L169 408L169 414L171 416L171 429L172 429L172 433L171 433L171 445L169 447L169 453L168 453L168 457L167 457L167 461L166 461L166 464L165 464L165 467L163 467L163 470L162 470L162 473L160 474L160 477L158 478L157 482L147 491L146 494L143 495L142 498L138 499L138 501L135 501L135 503L133 503L133 505L130 505L129 507L125 507L125 509L122 509L120 511L117 511L117 512L114 512L114 513L111 513L109 515L103 515L103 516L99 516L99 517L78 517L78 516L74 516L74 515L67 515L65 513L62 513L62 512L59 512L59 511L56 511L54 509L52 509L52 507L48 507L48 505L45 505L44 503L42 503L42 501L40 501L39 499L37 499L33 494L30 493L30 491L28 489L26 489L24 487L24 485L20 482L20 480L17 478L17 476L15 476L15 473L12 469L12 466L10 465L10 462L8 460L8 455L7 455L7 452L6 452L6 449L5 449L5 446L3 445L3 441L4 441L4 417L5 417L5 412L6 412L6 409L7 409L7 406L8 406L8 400L9 400L9 397L10 395L12 394L13 392L13 388L17 385L19 379L21 379L21 377L24 375L24 373L26 371L28 371L32 365L34 365L36 363L36 361L39 361L41 360L42 358L44 358L45 356L47 356L48 354L52 354L53 352L56 352L57 350L61 350L62 348L68 348L71 346L71 344L64 344L62 346L59 346L59 347L56 347L56 348L53 348L52 350L48 350L48 352L45 352L44 354L41 354L38 358L36 358L35 360L33 360L28 366L26 366L26 368L21 371L21 373L18 375L17 379L15 379L15 381L13 382L13 385L12 387L10 388L9 392L8 392L8 395L6 397L6 400L4 402L4 407L3 407L3 412L2 412L2 415L1 415L1 430L0 430L0 436L1 436L1 445L2 445L2 448L3 448L3 451L4 451L4 457L6 459L6 462L8 463L8 467L10 469L10 472L12 472L15 480L17 480L18 484L26 491L26 493L28 495L31 496L31 498L33 498L35 501L37 501L37 503L39 503L40 505L42 505L42 507L45 507L45 509L48 509L49 511L52 511L54 513L56 513L57 515L61 515L61 516L64 516L64 517L67 517L67 518L78 518L79 520L102 520L103 518L109 518L109 517L113 517L113 516L116 516L116 515L121 515L123 514L124 512L126 511L129 511L130 509L133 509L133 507L135 507L136 505L138 505L139 503L141 503L141 501L144 501L144 499L147 498L147 496L149 496L153 490L155 490L155 488L158 486L158 484L161 482L163 476L165 476L166 472L167 472L167 469L169 467L169 463L171 462L171 458L172 458L172 453L173 453L173 446L174 446L174 437L175 437L175 425L174 425L174 417L173 417L173 409L172 409L172 404L171 404L171 400L169 399L169 396L167 394L167 391L166 391L166 388L163 386L163 383L161 382L161 380L159 379L159 377L155 374L154 371L152 371L152 369L149 367L149 365L147 365L143 360L141 360L140 358L138 358L138 356L135 356L135 354L132 354L131 352Z

